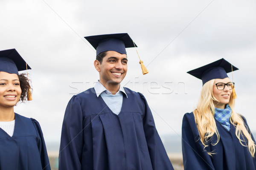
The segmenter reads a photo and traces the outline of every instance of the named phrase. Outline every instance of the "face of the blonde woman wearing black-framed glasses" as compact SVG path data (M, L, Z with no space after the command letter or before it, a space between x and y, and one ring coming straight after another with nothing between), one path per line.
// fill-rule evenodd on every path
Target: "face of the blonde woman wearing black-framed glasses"
M215 79L214 85L213 85L213 96L219 101L213 101L215 108L221 108L224 109L225 105L228 104L230 100L230 95L232 94L232 89L230 90L227 85L225 85L225 88L223 90L218 90L216 83L223 82L228 83L230 82L230 79L227 77L225 79Z

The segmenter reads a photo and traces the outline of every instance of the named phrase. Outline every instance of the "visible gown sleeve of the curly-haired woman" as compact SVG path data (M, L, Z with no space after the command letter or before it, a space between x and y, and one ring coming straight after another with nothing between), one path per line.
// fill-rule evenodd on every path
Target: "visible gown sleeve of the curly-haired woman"
M47 155L47 150L46 150L46 146L45 146L45 142L44 142L43 132L41 130L41 127L40 127L38 121L36 121L35 119L32 119L32 118L31 118L31 120L35 126L37 133L38 133L37 145L38 145L38 150L39 150L40 157L41 157L42 168L43 168L43 170L51 170L49 158Z

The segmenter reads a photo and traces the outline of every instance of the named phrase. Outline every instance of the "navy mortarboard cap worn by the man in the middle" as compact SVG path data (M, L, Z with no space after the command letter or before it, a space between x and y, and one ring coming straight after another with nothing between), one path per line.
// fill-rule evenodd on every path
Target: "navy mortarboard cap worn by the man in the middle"
M126 54L125 48L137 47L127 33L93 35L84 38L96 49L96 56L104 51Z

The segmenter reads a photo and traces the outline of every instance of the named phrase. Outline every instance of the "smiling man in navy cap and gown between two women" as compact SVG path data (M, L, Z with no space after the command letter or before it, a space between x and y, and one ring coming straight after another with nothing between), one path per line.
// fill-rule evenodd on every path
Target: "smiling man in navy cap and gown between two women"
M122 87L128 34L85 37L99 81L67 105L59 170L173 170L143 94Z

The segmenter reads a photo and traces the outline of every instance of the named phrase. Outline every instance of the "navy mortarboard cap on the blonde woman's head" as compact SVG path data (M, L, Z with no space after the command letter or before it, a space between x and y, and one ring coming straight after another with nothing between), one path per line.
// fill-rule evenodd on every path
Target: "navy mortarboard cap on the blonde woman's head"
M188 71L187 73L201 79L204 85L204 83L211 79L224 79L228 77L227 73L236 70L238 70L238 68L222 58L200 68L196 68L195 70Z

